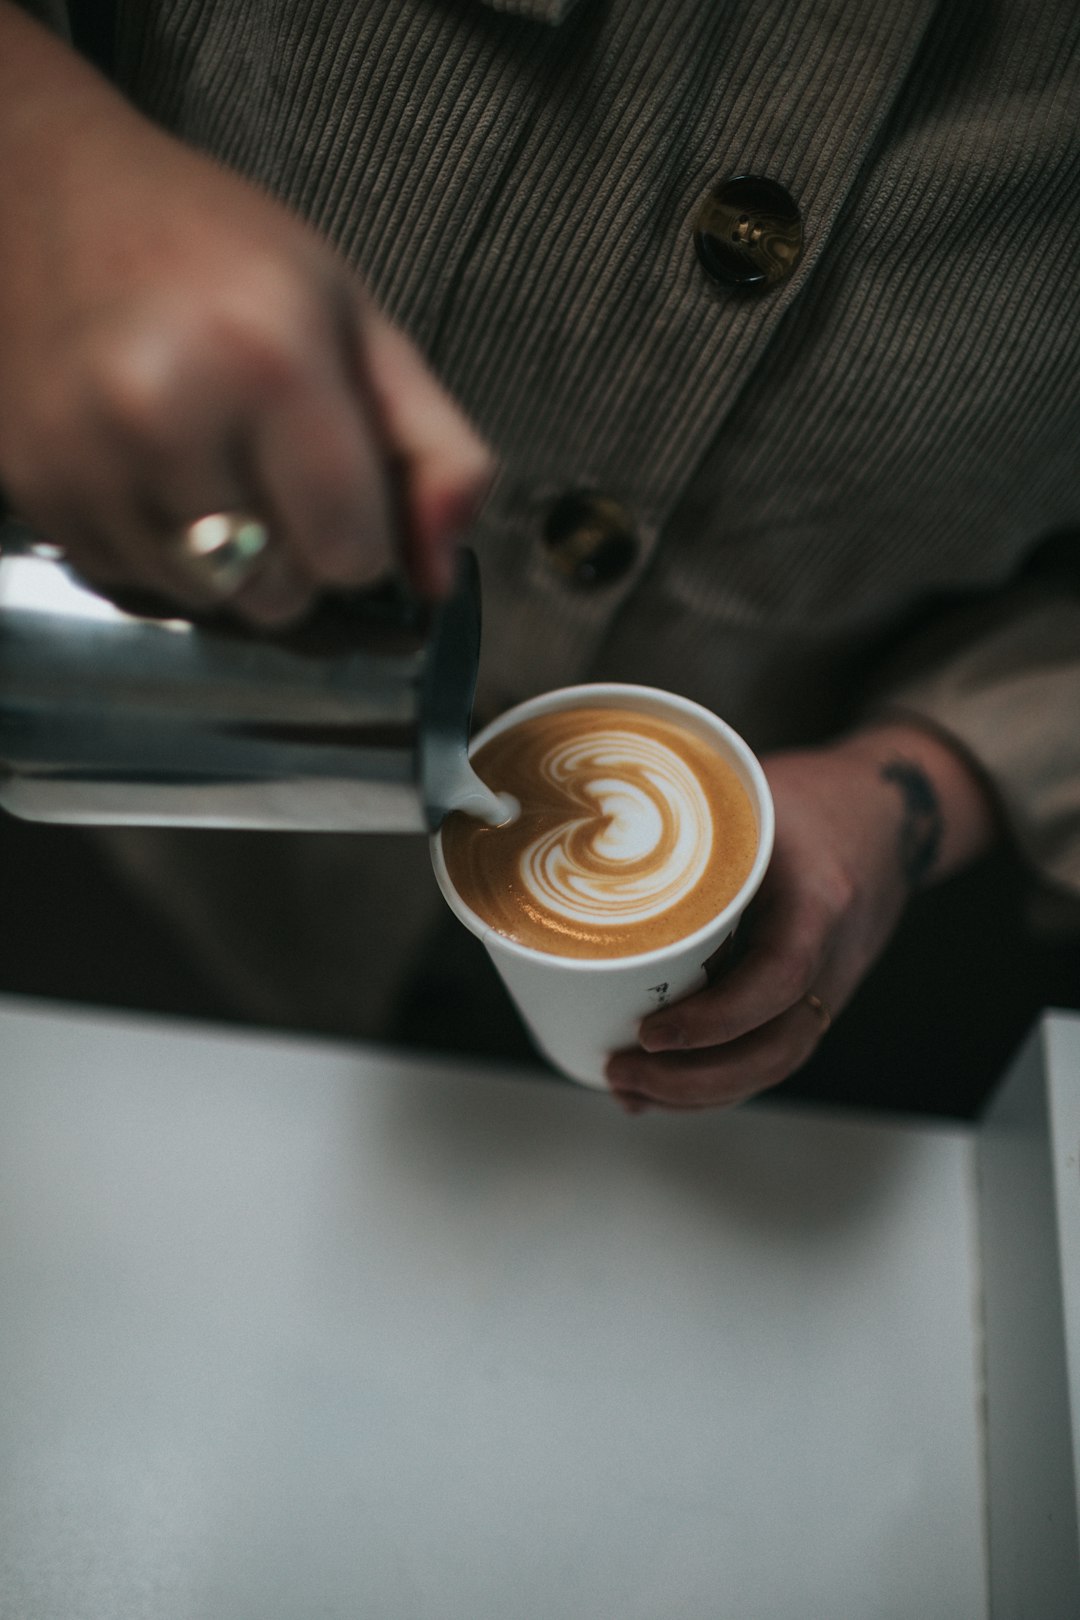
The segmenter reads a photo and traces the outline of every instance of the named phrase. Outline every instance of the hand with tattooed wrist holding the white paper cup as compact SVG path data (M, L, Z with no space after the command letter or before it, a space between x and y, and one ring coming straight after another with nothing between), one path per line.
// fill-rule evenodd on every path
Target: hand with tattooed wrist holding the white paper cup
M776 846L708 988L651 1014L607 1069L628 1113L730 1106L793 1074L894 932L913 888L980 854L994 812L975 771L916 726L764 761ZM740 941L742 944L742 941Z

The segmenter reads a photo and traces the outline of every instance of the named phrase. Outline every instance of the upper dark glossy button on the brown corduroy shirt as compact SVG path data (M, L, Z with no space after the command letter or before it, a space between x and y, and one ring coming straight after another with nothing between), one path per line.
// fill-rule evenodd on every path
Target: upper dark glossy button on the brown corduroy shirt
M803 220L776 180L735 175L701 199L693 245L722 287L779 287L803 256Z

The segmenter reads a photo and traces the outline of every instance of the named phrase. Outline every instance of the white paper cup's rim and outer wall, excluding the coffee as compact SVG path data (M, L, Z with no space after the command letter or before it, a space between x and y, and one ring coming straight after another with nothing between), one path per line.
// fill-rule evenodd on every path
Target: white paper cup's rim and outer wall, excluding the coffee
M544 692L486 726L473 739L470 753L534 714L568 708L628 708L685 726L730 765L746 789L758 820L753 867L738 894L712 922L685 940L654 951L593 959L552 956L497 933L453 888L442 855L442 836L436 833L432 838L436 880L450 910L484 941L541 1051L570 1079L606 1089L604 1066L609 1055L620 1047L635 1045L638 1024L646 1014L699 990L706 982L704 964L735 932L772 854L772 795L758 760L730 726L699 703L654 687L604 682Z

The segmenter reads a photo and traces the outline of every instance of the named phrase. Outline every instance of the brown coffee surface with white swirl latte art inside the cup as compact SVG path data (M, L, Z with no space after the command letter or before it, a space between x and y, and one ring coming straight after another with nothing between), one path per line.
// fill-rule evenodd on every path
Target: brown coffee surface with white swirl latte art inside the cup
M450 880L492 928L555 956L636 956L712 922L758 849L738 776L674 721L628 708L523 719L473 757L521 805L442 828Z

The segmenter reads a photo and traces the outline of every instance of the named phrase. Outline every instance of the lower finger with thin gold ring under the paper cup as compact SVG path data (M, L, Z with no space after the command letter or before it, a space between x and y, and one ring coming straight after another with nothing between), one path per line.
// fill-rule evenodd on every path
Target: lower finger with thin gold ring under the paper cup
M619 1095L670 1108L733 1106L795 1074L823 1034L819 1019L798 1003L725 1047L656 1056L635 1050L615 1053L607 1064L607 1081Z

